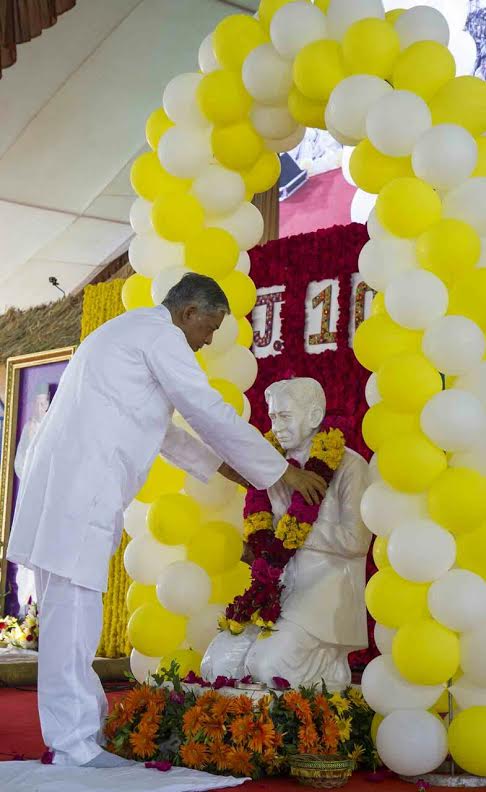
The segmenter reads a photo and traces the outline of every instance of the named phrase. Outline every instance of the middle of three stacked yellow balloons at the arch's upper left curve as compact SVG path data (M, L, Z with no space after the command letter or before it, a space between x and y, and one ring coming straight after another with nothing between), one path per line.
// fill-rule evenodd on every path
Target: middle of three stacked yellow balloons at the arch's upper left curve
M197 88L201 111L212 124L235 124L250 112L252 98L240 75L218 69L206 74Z

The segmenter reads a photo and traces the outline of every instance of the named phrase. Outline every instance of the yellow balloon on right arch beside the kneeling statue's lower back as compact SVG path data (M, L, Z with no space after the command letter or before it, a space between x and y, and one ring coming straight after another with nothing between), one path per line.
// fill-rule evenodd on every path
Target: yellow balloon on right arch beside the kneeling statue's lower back
M375 621L396 629L427 617L428 589L428 583L411 583L385 567L368 581L366 606Z

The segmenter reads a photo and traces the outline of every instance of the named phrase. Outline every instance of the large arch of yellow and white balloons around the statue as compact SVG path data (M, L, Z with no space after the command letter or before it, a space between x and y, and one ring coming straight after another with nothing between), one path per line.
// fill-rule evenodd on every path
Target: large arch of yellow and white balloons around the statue
M231 316L198 359L249 419L247 251L263 232L252 198L306 127L354 147L351 176L377 196L359 269L378 294L354 342L371 372L362 515L378 537L366 602L382 652L363 692L382 720L381 758L408 775L448 751L486 775L486 84L456 77L448 43L436 9L385 13L381 0L262 0L255 17L223 19L200 71L171 80L147 121L123 290L130 310L187 271L221 284ZM161 658L197 666L248 585L241 510L219 477L202 486L160 460L152 469L126 516L138 678ZM448 685L459 714L447 731L429 710Z

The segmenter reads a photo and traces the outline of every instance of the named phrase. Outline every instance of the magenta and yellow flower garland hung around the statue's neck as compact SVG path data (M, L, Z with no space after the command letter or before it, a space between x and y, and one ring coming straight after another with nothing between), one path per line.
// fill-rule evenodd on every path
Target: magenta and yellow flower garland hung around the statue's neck
M285 453L273 432L268 432L265 437L282 455ZM344 435L339 429L318 432L312 440L305 470L317 473L329 486L341 464L344 448ZM299 467L293 459L289 459L289 463ZM226 608L225 615L219 620L221 630L239 635L245 627L253 624L260 628L261 637L271 634L281 613L282 574L312 531L320 506L320 503L309 506L299 492L294 492L286 514L274 529L267 491L248 489L244 539L255 558L251 568L252 582L245 593L235 597Z

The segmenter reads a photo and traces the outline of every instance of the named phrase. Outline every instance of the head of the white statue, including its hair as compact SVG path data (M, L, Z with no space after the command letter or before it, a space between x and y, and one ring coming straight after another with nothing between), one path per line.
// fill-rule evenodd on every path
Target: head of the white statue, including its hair
M313 437L326 414L324 389L310 377L274 382L266 389L265 400L272 431L286 451Z

